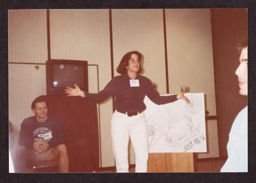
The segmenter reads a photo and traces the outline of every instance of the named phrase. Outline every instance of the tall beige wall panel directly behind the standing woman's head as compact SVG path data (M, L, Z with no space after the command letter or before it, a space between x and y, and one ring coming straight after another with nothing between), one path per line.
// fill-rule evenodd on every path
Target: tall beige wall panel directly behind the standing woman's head
M114 68L129 51L144 56L143 76L166 93L163 10L112 10ZM117 72L115 72L117 75Z

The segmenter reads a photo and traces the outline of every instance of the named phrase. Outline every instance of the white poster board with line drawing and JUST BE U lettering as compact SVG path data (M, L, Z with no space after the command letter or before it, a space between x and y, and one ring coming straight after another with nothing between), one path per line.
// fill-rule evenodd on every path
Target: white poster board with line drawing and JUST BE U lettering
M207 152L204 93L186 93L191 104L177 100L154 104L146 96L150 153Z

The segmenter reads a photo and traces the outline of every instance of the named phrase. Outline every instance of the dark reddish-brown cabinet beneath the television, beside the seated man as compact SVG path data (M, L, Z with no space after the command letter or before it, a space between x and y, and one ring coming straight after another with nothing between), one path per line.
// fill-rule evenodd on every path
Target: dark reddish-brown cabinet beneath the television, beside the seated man
M50 115L63 123L70 172L99 170L99 131L97 105L81 97L49 95Z

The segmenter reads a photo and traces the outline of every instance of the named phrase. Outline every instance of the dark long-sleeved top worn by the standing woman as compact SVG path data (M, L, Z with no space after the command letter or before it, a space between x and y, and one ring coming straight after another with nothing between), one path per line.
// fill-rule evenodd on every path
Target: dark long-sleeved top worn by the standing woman
M84 96L97 103L103 102L110 96L115 97L115 109L124 112L144 111L146 109L143 102L145 95L156 104L166 104L177 100L176 95L160 96L152 82L145 76L138 74L136 79L140 86L136 87L130 86L130 79L127 74L113 77L99 93L84 93Z

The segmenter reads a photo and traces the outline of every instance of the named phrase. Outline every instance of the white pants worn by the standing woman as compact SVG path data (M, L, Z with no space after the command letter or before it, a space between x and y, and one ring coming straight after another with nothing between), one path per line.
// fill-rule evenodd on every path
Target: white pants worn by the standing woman
M145 115L140 113L129 117L115 111L111 119L111 136L116 161L116 172L129 172L129 137L135 152L135 172L147 172L148 130Z

